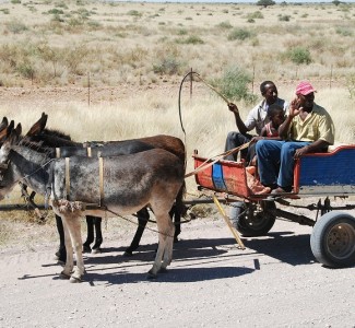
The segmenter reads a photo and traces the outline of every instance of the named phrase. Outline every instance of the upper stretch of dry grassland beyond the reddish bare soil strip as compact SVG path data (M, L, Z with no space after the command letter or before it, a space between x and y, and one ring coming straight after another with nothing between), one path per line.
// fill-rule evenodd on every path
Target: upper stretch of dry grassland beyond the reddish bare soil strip
M191 67L212 79L238 63L257 80L332 74L344 84L354 73L354 14L353 4L332 3L2 3L1 83L84 85L90 72L97 86L146 85L159 83L162 74L176 81ZM230 39L235 30L248 36ZM309 50L311 62L285 57L294 47Z

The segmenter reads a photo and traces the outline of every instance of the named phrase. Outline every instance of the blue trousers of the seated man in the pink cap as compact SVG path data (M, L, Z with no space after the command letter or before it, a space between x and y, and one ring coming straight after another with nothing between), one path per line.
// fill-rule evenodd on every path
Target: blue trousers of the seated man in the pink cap
M259 140L256 145L260 181L264 186L289 188L294 183L295 151L305 141Z

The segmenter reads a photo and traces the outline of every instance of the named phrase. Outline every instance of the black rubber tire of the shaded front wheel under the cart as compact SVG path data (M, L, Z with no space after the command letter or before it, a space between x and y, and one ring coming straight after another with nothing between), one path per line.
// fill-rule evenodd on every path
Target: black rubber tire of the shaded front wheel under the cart
M258 215L263 215L258 221L250 222L247 215L242 212L247 209L247 203L242 201L237 201L232 203L232 209L229 212L230 221L234 227L245 237L258 237L264 236L273 227L275 223L275 216L273 215L263 215L259 213ZM268 208L275 208L275 203L271 201L262 201L262 206Z

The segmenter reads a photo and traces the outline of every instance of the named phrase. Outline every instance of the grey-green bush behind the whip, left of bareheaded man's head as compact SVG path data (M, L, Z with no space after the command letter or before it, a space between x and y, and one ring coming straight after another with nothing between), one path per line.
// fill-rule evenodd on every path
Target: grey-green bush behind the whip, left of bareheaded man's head
M248 84L251 81L250 74L244 69L229 67L221 78L213 80L211 84L230 101L244 99L247 103L252 103L257 96L249 92Z

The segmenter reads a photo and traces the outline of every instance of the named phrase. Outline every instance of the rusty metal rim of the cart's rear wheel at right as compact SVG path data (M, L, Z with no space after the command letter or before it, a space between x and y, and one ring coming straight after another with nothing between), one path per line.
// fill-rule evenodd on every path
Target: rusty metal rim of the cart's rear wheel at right
M348 223L332 226L327 235L327 248L334 258L348 258L355 253L355 227Z

